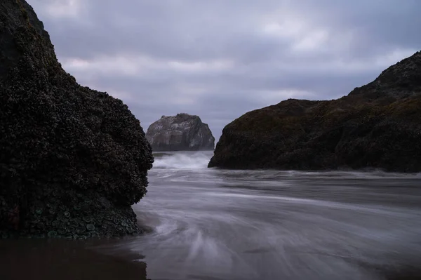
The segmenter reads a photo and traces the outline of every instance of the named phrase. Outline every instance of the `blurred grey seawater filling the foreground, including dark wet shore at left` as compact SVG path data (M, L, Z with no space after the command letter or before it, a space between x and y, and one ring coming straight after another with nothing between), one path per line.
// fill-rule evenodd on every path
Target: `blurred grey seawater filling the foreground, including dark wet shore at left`
M147 234L1 241L0 279L421 279L420 174L219 170L212 154L155 154L133 206Z

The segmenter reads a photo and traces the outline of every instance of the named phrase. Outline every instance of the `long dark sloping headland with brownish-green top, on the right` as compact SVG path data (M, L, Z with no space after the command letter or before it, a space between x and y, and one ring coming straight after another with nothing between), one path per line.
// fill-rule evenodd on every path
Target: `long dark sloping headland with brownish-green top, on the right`
M338 100L285 100L222 131L209 167L421 171L421 53Z

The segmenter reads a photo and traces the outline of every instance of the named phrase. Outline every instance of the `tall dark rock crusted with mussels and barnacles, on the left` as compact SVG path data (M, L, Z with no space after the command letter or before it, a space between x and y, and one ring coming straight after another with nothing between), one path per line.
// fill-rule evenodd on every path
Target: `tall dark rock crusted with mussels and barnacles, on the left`
M0 236L140 232L152 149L121 100L79 86L23 0L0 3Z

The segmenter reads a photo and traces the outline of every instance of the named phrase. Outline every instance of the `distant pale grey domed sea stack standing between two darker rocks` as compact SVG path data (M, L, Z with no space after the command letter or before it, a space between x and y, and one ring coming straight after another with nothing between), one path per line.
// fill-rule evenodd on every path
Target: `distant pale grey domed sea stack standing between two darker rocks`
M146 138L154 152L197 151L215 147L209 126L199 116L177 114L162 116L147 128Z

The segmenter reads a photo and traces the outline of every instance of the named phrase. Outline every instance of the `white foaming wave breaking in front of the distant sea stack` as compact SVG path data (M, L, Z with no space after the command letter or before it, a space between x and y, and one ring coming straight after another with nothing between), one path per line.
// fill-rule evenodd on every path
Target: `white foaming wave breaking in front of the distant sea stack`
M201 169L207 168L212 154L209 152L178 152L155 157L154 168Z

